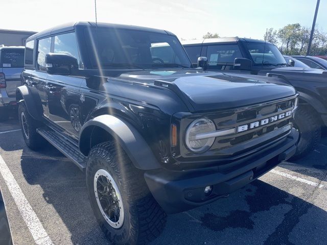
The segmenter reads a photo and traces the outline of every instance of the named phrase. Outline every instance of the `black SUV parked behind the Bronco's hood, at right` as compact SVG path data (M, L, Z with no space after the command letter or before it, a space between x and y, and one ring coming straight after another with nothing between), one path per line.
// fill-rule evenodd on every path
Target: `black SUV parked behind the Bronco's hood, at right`
M281 79L279 84L295 87L299 109L294 127L300 137L294 158L305 156L315 148L322 127L327 126L327 71L292 67L275 45L261 40L229 37L182 44L195 67L199 57L206 57L205 63L200 58L204 69L276 77Z

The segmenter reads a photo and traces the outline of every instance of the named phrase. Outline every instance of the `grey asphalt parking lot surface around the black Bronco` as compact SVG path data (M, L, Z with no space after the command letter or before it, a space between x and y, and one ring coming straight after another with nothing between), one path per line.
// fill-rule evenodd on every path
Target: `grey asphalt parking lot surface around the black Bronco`
M18 129L17 120L0 123L0 188L14 243L109 244L92 214L83 173L51 145L41 152L28 149ZM27 202L14 200L5 166ZM28 224L26 207L36 214ZM44 228L37 242L30 232L38 228L35 219ZM228 198L169 215L164 232L151 244L327 244L326 227L324 136L309 156L281 163Z

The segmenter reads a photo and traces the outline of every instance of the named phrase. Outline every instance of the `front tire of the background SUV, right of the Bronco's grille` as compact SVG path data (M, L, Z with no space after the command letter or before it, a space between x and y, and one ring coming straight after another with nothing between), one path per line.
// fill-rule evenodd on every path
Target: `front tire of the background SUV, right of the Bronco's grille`
M309 108L297 108L294 119L294 128L299 131L299 140L293 160L302 158L314 150L321 137L319 120Z

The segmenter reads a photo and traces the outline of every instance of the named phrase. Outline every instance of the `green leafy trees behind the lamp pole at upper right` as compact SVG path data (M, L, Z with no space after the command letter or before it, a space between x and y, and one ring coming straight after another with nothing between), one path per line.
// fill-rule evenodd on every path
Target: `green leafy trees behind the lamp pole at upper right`
M278 31L270 28L264 35L264 39L274 43L285 55L306 55L310 39L311 28L301 27L299 23L288 24ZM310 55L327 54L327 34L320 32L316 27Z

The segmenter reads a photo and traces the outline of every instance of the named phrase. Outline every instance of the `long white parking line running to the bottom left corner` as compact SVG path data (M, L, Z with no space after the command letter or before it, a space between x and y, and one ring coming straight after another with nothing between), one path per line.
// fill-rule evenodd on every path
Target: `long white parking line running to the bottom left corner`
M0 155L0 173L4 178L8 189L18 207L18 210L29 228L34 241L37 245L53 245L52 240L44 230L40 220L33 211L31 205L26 200L14 176L9 170L4 159Z

